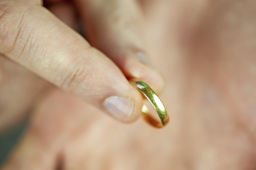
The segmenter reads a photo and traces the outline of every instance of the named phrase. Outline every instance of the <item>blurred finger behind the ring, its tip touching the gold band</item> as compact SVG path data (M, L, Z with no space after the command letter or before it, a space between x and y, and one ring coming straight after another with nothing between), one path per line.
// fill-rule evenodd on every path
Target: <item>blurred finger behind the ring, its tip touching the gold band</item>
M143 42L143 15L136 1L77 0L88 38L121 68L126 77L139 78L160 92L164 81L149 66Z

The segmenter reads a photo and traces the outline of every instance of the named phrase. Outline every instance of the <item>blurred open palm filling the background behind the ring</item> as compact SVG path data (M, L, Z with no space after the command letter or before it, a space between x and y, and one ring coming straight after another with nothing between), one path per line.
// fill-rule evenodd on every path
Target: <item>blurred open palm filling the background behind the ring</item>
M166 80L159 97L169 125L154 129L142 119L122 124L23 69L17 73L26 77L24 82L38 82L34 94L40 95L34 95L29 128L3 169L256 168L255 2L140 5L145 50ZM55 13L56 6L49 9ZM72 19L63 18L75 28Z

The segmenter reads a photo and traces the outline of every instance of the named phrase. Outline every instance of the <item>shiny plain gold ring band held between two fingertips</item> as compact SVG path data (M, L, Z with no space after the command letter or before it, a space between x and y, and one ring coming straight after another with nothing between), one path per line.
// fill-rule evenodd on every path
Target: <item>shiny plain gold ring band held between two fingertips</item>
M138 79L130 79L129 81L150 101L150 103L155 108L155 111L157 111L161 122L156 120L149 114L149 110L145 104L141 109L144 120L146 120L146 122L156 128L162 128L163 126L165 126L169 122L169 116L167 114L165 106L163 105L157 94L155 94L155 92L146 83Z

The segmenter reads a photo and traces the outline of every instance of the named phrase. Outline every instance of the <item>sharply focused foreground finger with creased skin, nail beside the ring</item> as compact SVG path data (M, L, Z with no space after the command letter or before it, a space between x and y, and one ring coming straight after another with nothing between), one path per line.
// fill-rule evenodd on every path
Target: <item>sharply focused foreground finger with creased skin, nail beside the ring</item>
M1 1L0 9L2 54L119 120L138 117L139 92L78 33L30 1Z

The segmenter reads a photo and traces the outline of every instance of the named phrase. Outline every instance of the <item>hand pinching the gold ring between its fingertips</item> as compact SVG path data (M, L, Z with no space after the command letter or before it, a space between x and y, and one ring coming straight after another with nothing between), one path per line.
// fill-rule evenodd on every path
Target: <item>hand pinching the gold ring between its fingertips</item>
M75 27L70 5L45 3L56 15L63 11L59 16L65 15L66 21L70 19L67 24ZM50 84L127 122L139 116L142 98L126 77L137 77L161 91L161 75L138 60L145 59L147 52L142 13L135 2L93 0L73 5L80 7L79 16L94 47L42 7L41 1L0 2L1 130L28 112Z

